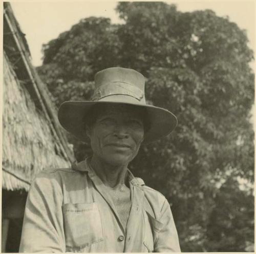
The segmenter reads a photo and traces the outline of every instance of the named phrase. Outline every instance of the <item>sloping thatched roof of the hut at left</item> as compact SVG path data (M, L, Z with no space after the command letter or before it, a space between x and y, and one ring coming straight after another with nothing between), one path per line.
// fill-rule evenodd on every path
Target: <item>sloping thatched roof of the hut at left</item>
M3 60L3 188L28 190L37 172L67 167L73 154L9 3L4 3Z

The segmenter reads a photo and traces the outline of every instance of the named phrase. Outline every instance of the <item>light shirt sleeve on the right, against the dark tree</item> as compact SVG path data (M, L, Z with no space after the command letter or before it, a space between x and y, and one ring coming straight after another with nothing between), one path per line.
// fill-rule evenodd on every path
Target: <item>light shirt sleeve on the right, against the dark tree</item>
M166 199L161 209L160 222L163 226L159 231L154 252L181 252L173 214L170 211L170 206Z

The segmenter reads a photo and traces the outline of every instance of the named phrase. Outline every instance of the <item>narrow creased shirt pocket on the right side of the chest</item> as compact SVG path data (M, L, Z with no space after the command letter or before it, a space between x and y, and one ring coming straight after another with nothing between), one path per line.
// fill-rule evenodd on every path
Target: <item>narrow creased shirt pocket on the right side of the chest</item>
M154 245L159 237L159 232L163 226L163 223L155 219L148 212L143 213L144 216L144 238L143 244L147 248L148 252L154 251Z

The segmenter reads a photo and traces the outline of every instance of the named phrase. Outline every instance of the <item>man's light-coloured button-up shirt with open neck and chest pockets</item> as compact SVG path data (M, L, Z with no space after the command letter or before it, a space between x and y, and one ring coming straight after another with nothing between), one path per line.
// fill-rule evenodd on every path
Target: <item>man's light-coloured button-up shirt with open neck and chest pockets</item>
M129 171L126 228L105 185L87 161L47 169L33 181L20 252L180 252L166 198Z

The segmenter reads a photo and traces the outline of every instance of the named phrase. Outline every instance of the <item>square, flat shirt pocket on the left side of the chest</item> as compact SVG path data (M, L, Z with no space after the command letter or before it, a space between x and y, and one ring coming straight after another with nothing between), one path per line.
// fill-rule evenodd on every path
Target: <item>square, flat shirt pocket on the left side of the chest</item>
M98 205L93 203L62 206L66 248L77 252L103 240Z

